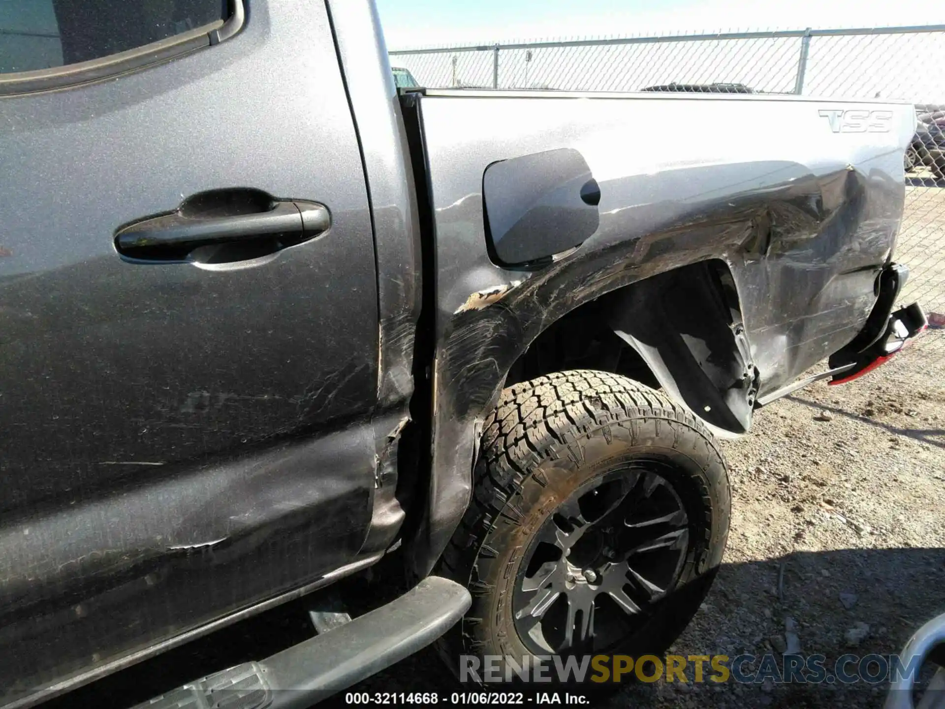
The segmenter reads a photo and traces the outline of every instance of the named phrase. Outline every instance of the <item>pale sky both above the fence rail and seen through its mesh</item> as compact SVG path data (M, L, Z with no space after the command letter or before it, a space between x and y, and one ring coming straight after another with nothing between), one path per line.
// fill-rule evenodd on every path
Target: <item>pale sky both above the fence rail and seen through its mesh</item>
M895 0L376 0L390 50L765 29L945 25L945 2ZM639 91L743 83L790 93L797 38L506 49L498 88ZM391 58L423 86L491 87L491 51ZM945 102L945 31L815 37L804 95Z

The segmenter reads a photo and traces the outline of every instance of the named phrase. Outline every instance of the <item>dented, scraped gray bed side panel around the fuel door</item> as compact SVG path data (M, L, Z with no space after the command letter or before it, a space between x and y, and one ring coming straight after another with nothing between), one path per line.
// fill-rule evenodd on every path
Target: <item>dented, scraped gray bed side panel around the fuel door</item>
M421 100L437 248L436 410L430 524L416 554L435 562L472 490L477 424L508 368L582 303L672 268L722 259L741 300L761 393L848 342L875 300L902 216L892 130L837 134L834 104L765 96L504 95ZM682 139L675 117L698 115ZM575 148L600 187L600 224L542 268L496 266L486 248L483 171Z

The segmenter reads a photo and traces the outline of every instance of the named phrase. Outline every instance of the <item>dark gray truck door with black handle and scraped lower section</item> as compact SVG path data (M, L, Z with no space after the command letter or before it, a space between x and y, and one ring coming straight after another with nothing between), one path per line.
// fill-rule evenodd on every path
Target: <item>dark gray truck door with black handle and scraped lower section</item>
M322 3L0 3L0 165L12 700L356 557L378 323Z

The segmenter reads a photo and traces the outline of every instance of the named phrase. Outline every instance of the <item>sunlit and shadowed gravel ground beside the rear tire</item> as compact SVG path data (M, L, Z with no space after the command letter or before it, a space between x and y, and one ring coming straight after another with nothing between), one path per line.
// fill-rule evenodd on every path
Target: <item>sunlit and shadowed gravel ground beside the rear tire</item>
M750 435L723 443L733 493L729 547L675 653L781 652L787 623L801 652L825 655L830 667L847 652L897 652L945 612L943 340L945 332L930 332L849 386L801 389L758 411ZM431 649L352 688L441 696L457 689ZM879 707L884 695L885 686L865 683L658 682L597 704Z

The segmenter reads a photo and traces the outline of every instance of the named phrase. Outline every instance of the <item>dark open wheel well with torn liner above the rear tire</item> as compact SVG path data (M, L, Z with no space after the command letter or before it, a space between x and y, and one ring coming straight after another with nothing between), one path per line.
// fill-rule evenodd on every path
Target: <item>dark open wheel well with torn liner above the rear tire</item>
M584 303L541 332L506 386L577 369L665 389L716 432L745 433L758 372L728 265L674 268Z

